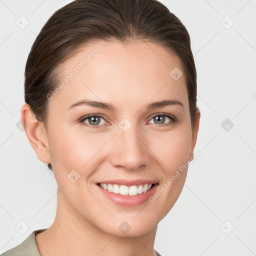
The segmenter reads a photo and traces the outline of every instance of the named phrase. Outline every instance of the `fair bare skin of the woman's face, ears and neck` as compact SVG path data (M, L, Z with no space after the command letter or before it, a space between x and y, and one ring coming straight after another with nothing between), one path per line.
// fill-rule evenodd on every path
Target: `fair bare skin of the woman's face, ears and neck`
M54 222L35 240L42 256L153 255L157 224L176 202L187 169L154 202L137 206L106 199L96 183L146 178L157 180L160 188L192 159L200 113L192 129L181 62L152 42L87 44L61 65L61 75L68 75L94 48L99 50L95 57L49 100L47 129L29 105L21 108L27 138L38 159L51 163L58 184ZM175 66L183 72L178 80L169 75ZM83 98L111 103L116 111L88 105L67 110ZM183 107L146 110L146 104L163 99L178 100ZM162 113L174 115L177 122L166 116L164 122L171 125L161 126L152 115ZM88 114L103 116L100 127L78 122ZM125 132L118 126L123 118L131 124ZM74 183L66 177L72 169L80 174ZM124 220L131 226L127 233L118 228Z

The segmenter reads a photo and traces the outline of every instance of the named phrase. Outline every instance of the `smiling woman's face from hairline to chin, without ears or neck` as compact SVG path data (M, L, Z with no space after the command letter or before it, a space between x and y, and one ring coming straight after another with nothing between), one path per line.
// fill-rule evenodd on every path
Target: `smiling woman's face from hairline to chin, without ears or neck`
M155 43L107 41L80 48L61 70L44 140L58 204L112 235L147 233L177 200L196 141L180 60Z

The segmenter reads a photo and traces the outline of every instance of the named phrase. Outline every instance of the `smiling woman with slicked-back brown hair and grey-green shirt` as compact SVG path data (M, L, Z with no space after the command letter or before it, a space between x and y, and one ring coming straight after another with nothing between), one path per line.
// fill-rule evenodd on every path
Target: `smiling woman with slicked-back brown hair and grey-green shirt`
M157 224L200 118L180 20L156 0L75 0L35 39L24 87L23 128L54 173L57 211L2 255L160 255Z

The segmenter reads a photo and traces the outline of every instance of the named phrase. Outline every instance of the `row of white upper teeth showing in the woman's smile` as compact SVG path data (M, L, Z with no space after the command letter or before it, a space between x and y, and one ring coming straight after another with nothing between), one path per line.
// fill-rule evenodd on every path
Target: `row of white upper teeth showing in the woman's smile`
M109 192L113 192L116 194L137 195L137 194L145 193L147 190L151 188L152 184L140 184L138 186L136 185L125 186L125 185L117 185L117 184L100 183L99 186L105 190L108 190Z

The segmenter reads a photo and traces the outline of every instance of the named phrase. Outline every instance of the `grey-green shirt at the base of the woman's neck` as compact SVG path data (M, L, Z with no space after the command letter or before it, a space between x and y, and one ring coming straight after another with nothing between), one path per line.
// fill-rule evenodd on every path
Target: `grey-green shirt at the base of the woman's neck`
M41 256L35 242L35 235L44 229L34 230L23 242L3 252L0 256ZM162 256L154 249L154 256Z

